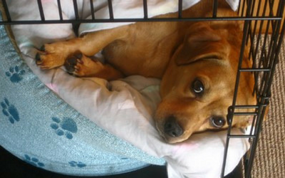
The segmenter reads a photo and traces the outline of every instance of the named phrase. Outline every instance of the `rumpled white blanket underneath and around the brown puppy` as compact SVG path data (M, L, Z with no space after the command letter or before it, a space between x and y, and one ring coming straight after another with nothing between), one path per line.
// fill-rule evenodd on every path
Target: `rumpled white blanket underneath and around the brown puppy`
M10 0L9 11L14 20L40 19L36 0ZM228 0L235 10L237 1ZM46 19L59 19L56 0L42 0ZM198 0L183 1L183 9ZM74 19L73 2L61 1L64 19ZM142 1L114 0L115 18L142 17ZM94 1L95 17L108 18L106 1ZM78 0L82 19L90 18L89 1ZM158 9L158 10L157 10ZM151 0L148 2L149 16L177 11L177 1ZM113 28L125 23L81 24L80 33L103 28ZM62 68L43 71L35 62L35 48L44 43L73 38L71 24L18 25L12 26L16 43L28 66L43 83L63 98L78 112L100 127L132 143L141 150L167 161L170 178L220 177L227 131L204 132L192 135L189 140L169 145L162 140L152 115L160 102L160 80L130 76L108 83L98 78L74 78ZM111 90L108 88L111 86ZM239 130L232 133L242 134ZM239 160L249 149L247 139L232 139L225 174L232 172Z

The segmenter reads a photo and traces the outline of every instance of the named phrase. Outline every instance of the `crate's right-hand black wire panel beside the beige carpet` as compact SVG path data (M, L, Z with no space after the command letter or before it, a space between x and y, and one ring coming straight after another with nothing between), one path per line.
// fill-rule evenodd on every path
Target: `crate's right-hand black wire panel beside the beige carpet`
M261 125L266 115L267 106L269 105L269 98L271 97L270 87L274 78L276 63L279 60L278 54L281 43L284 38L284 21L281 20L282 16L284 16L284 1L243 1L239 6L239 14L240 16L254 17L254 20L245 21L243 39L243 42L250 46L249 60L253 61L253 65L252 68L241 68L239 66L236 90L237 85L239 85L240 73L254 73L254 93L257 94L257 105L237 106L233 102L233 105L229 108L228 119L232 120L235 115L243 114L254 116L252 129L248 132L249 135L244 135L249 138L249 142L251 143L251 150L244 157L244 177L251 177L259 133L261 132ZM279 17L280 19L263 19L266 16ZM255 112L236 112L236 110L244 107L252 107L255 109ZM228 139L233 137L230 134L230 129L228 134Z

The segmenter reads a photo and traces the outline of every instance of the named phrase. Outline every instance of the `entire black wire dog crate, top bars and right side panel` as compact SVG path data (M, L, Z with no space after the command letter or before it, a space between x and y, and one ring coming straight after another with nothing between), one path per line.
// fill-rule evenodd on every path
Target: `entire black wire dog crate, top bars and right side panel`
M106 0L107 1L107 0ZM115 1L115 0L114 0ZM93 1L90 0L90 11L92 14L91 19L80 19L78 14L77 1L73 0L73 10L75 19L63 19L61 0L58 3L58 20L46 20L43 13L43 4L41 0L37 0L38 11L41 16L38 21L13 21L9 14L9 7L6 0L2 0L4 10L6 12L6 19L0 21L0 25L16 25L16 24L43 24L43 23L115 23L115 22L139 22L139 21L244 21L244 34L242 38L242 46L240 50L239 66L237 70L237 78L235 84L234 98L232 105L229 106L227 122L229 123L227 143L224 148L224 162L222 168L222 175L224 177L224 169L226 166L227 150L229 140L234 138L248 138L251 143L251 149L244 156L244 177L251 177L254 155L257 149L259 134L261 132L261 125L266 115L266 108L269 105L271 97L271 83L274 78L274 70L279 60L279 51L281 49L282 39L284 38L285 23L282 17L284 16L284 0L241 0L239 1L239 8L237 17L218 16L217 11L219 7L218 0L212 1L212 16L201 18L185 18L182 16L182 0L178 3L178 15L176 18L149 18L147 12L147 0L142 0L143 4L143 18L136 19L118 19L113 14L113 1L108 0L109 19L97 19L94 16ZM264 40L261 40L261 37ZM249 60L253 61L252 68L242 68L243 53L245 46L250 44L248 53ZM266 48L266 46L269 46ZM257 105L237 105L237 90L239 87L239 76L244 72L254 73L255 85L253 93L257 95ZM240 110L250 108L254 112L242 112ZM253 115L252 129L249 130L247 135L232 135L232 120L234 116L238 115Z

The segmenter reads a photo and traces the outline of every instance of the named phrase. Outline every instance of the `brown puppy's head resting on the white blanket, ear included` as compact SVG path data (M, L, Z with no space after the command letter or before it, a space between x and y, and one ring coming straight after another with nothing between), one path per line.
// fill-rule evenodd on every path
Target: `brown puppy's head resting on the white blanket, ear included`
M190 26L162 77L162 102L155 122L167 142L182 142L195 132L228 127L242 33L235 24L214 26L204 22ZM250 67L247 59L242 66ZM237 105L254 104L253 85L253 75L242 73ZM233 125L245 127L248 122L248 117L239 117Z

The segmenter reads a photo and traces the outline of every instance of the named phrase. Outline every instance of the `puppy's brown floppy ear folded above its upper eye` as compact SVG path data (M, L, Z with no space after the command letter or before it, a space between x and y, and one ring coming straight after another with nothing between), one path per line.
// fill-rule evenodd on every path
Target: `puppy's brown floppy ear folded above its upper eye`
M190 26L184 42L175 51L175 63L180 66L202 58L222 59L227 56L227 48L227 41L207 22L197 22Z

